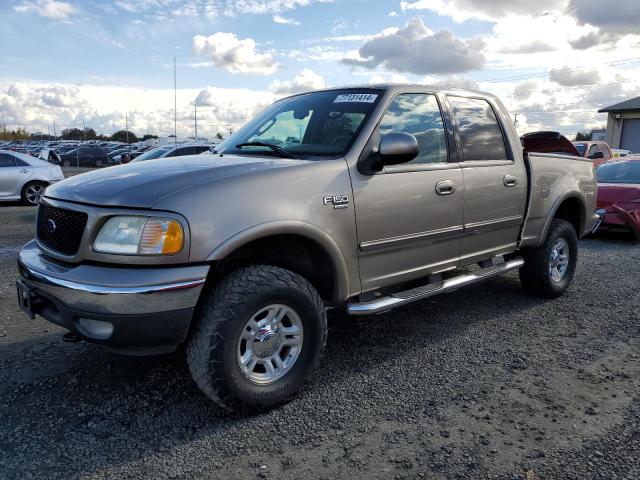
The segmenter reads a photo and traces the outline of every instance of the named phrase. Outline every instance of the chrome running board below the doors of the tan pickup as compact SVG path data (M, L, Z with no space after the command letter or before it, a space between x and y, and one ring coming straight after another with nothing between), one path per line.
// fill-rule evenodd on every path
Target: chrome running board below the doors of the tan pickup
M397 292L386 297L376 298L368 302L351 302L347 305L349 315L374 315L383 313L392 308L400 307L408 303L424 300L441 293L451 292L460 287L482 282L489 278L497 277L511 270L515 270L524 265L524 260L520 257L509 260L498 265L492 265L475 272L465 273L458 277L449 278L438 283L431 283L421 287Z

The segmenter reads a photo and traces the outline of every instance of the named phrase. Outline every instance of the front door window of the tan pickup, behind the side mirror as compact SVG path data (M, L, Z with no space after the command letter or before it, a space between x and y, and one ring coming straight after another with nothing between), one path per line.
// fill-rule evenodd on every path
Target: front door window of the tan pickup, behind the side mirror
M380 122L380 134L410 133L418 140L411 164L446 163L447 138L435 95L403 93L393 99Z

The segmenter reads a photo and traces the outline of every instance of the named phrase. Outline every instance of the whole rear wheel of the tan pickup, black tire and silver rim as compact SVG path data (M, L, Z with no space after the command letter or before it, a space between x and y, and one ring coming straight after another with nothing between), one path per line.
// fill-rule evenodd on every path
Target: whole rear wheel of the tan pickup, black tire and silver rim
M523 252L520 281L524 290L539 297L562 295L573 280L578 260L578 236L573 225L555 218L540 247Z

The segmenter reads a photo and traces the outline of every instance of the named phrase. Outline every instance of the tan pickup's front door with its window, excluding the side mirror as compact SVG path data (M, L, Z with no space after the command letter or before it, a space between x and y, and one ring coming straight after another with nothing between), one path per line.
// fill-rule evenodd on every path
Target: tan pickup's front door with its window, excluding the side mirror
M372 141L391 132L413 134L418 156L374 175L352 170L365 291L453 269L459 263L464 182L458 163L449 162L436 96L397 95Z

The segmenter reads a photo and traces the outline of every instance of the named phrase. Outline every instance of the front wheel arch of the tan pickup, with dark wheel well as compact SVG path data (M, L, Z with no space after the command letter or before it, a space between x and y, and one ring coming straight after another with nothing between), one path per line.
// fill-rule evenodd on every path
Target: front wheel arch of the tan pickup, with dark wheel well
M307 278L324 300L349 297L347 265L336 242L320 228L304 222L269 222L248 228L221 243L207 257L218 271L266 263Z

